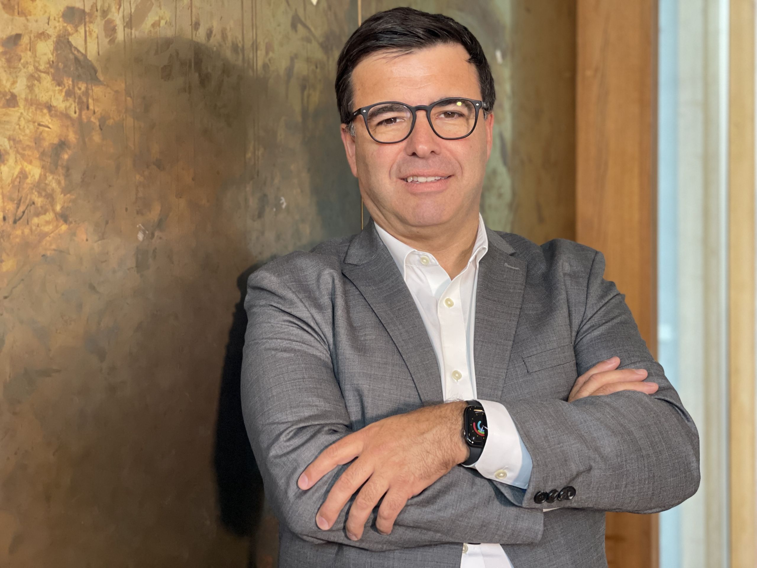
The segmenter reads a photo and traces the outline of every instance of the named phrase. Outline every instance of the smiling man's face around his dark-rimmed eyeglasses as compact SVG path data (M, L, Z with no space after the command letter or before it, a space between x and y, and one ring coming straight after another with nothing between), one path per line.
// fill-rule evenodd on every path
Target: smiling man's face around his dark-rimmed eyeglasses
M352 73L354 105L382 101L428 105L442 98L481 99L478 73L468 63L462 45L437 45L409 54L379 51L360 61ZM371 217L385 228L405 234L475 215L484 170L491 153L494 116L478 123L472 134L458 140L437 136L425 111L418 111L410 136L396 144L375 142L362 117L354 120L353 138L341 130L347 160L360 183ZM407 182L409 176L447 176L435 182Z

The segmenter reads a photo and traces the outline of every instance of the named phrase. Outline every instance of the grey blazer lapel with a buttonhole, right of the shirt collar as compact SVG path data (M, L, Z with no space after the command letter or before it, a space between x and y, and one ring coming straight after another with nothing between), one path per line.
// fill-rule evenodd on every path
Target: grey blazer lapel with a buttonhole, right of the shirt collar
M476 396L501 401L525 290L526 263L498 233L478 264L473 358Z

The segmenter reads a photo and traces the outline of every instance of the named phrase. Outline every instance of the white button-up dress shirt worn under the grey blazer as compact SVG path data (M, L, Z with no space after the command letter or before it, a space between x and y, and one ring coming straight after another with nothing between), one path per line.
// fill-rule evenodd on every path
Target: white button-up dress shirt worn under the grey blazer
M476 398L473 365L475 291L478 263L489 245L483 217L478 214L478 235L468 264L451 280L432 254L406 245L378 223L375 227L413 295L434 346L444 401L475 399L484 407L488 423L486 445L472 467L495 482L525 489L531 476L531 455L515 423L499 402ZM512 568L512 563L499 544L464 543L460 568Z

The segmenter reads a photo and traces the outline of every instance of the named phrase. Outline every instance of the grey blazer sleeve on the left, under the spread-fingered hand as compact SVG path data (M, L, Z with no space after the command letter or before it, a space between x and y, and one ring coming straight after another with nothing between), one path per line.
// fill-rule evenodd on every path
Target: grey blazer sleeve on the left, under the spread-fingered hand
M298 476L324 448L352 431L332 366L331 350L338 349L330 322L333 291L323 283L329 276L322 267L321 274L313 275L313 281L320 282L316 294L312 283L306 290L301 281L317 267L311 270L301 263L297 276L288 278L282 277L285 271L280 267L266 265L248 279L241 371L245 426L266 498L279 521L306 541L370 551L450 542L538 541L544 513L515 506L494 482L464 467L454 467L411 498L390 535L375 530L374 510L363 537L347 538L344 523L351 501L332 529L316 526L316 511L347 465L307 491L298 488Z

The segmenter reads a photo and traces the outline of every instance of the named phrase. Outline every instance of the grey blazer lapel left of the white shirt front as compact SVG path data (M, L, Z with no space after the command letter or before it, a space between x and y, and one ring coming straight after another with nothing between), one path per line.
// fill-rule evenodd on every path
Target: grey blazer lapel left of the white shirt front
M444 401L434 347L413 296L373 220L350 242L342 273L360 290L397 345L423 404Z

